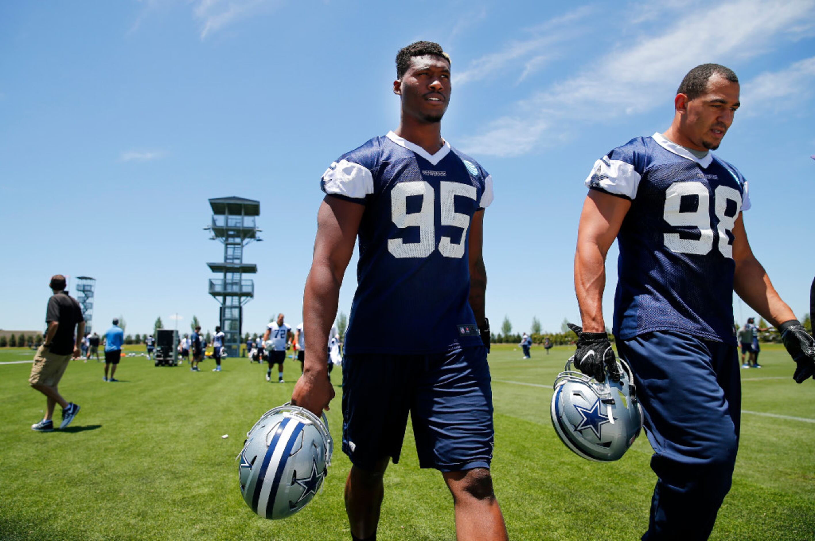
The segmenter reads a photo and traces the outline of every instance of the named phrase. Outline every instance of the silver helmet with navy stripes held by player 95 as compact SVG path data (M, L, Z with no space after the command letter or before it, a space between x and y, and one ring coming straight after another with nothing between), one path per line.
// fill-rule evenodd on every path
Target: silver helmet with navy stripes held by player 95
M332 452L325 414L321 420L288 403L268 410L240 451L240 493L261 517L289 517L322 486Z

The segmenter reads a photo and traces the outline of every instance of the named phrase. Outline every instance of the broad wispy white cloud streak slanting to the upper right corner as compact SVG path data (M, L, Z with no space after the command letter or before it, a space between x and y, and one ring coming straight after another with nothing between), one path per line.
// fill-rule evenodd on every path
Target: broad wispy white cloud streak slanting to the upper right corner
M520 155L587 122L654 109L672 97L694 65L749 58L771 50L782 38L800 38L812 28L801 21L813 20L815 0L738 0L715 7L698 4L683 13L672 17L676 22L666 32L618 47L588 69L518 102L517 113L491 122L482 134L465 139L462 148ZM619 21L626 24L624 18ZM807 69L805 64L799 71Z

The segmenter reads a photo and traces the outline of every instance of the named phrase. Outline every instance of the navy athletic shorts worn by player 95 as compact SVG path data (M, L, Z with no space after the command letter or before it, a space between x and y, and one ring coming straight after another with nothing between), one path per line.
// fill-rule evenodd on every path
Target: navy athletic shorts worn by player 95
M421 468L489 468L492 390L487 349L433 355L348 354L342 362L342 450L371 470L399 462L410 413Z

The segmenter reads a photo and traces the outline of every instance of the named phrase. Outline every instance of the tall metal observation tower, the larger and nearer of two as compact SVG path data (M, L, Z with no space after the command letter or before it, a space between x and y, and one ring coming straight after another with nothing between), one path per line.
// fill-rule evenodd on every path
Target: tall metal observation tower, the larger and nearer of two
M254 297L254 282L244 274L258 272L258 265L244 263L244 248L249 242L262 241L255 217L260 215L260 202L243 197L210 199L212 223L205 227L212 232L210 240L223 243L223 262L208 263L213 273L222 275L209 280L209 295L221 304L221 330L224 347L230 357L240 355L240 332L243 326L243 305Z

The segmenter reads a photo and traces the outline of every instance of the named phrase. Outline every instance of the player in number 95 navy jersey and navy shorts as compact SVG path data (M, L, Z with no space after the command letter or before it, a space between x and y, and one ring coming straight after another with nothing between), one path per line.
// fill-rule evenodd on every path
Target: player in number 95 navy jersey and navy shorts
M352 463L353 539L376 539L388 463L410 413L421 468L442 472L458 539L506 539L492 490L492 396L482 259L490 175L441 136L450 58L416 42L396 56L399 128L325 171L306 280L306 359L292 402L328 409L325 344L359 237L357 290L342 363L342 450Z

